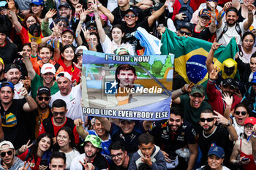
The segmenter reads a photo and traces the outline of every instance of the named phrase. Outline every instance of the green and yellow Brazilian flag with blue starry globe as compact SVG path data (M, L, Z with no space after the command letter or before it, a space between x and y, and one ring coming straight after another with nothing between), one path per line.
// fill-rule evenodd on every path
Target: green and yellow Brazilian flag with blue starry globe
M177 36L173 31L166 28L162 35L162 55L173 53L175 55L174 68L187 83L205 84L208 80L206 58L211 50L211 42L202 39ZM222 69L222 62L227 58L234 58L238 52L236 39L224 47L219 47L214 53L214 67Z

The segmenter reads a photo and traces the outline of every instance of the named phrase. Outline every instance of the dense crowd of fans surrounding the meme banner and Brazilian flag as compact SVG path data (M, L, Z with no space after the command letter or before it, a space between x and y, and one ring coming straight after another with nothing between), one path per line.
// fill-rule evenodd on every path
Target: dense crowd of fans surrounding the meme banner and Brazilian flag
M254 4L1 0L0 169L256 169ZM213 42L206 88L175 72L168 120L83 115L83 50L143 55L139 27ZM215 68L233 37L238 53Z

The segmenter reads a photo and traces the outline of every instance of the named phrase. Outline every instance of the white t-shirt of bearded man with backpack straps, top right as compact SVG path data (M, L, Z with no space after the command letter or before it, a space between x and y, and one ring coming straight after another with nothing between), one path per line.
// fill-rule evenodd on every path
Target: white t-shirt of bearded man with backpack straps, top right
M238 23L240 28L241 28L241 35L244 34L244 32L246 32L244 30L244 22L241 22L241 23ZM222 23L222 26L216 30L216 34L217 34L217 39L219 39L219 36L222 34L222 31L223 31L223 28L225 26L225 23ZM241 41L241 36L237 33L236 31L236 24L233 26L233 27L228 27L227 28L227 31L225 32L225 34L222 35L222 38L219 39L218 43L223 43L223 45L228 45L228 43L230 42L230 39L232 39L233 37L236 38L236 42L238 45L241 45L242 44L242 41Z

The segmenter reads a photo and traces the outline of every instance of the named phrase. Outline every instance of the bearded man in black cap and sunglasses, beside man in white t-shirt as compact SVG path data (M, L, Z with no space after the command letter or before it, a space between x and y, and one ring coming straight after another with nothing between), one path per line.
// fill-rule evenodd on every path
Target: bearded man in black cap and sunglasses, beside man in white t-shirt
M37 139L39 133L39 125L42 123L42 120L45 120L48 117L53 117L53 114L50 110L50 88L42 86L37 90L37 110L35 111L35 139Z

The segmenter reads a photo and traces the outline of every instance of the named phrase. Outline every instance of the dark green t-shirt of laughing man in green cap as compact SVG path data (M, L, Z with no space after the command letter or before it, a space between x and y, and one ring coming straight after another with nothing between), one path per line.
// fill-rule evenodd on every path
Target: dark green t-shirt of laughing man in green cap
M189 95L181 95L181 108L183 109L184 119L193 125L196 131L200 129L199 119L203 109L211 108L211 105L203 101L198 109L191 107Z

